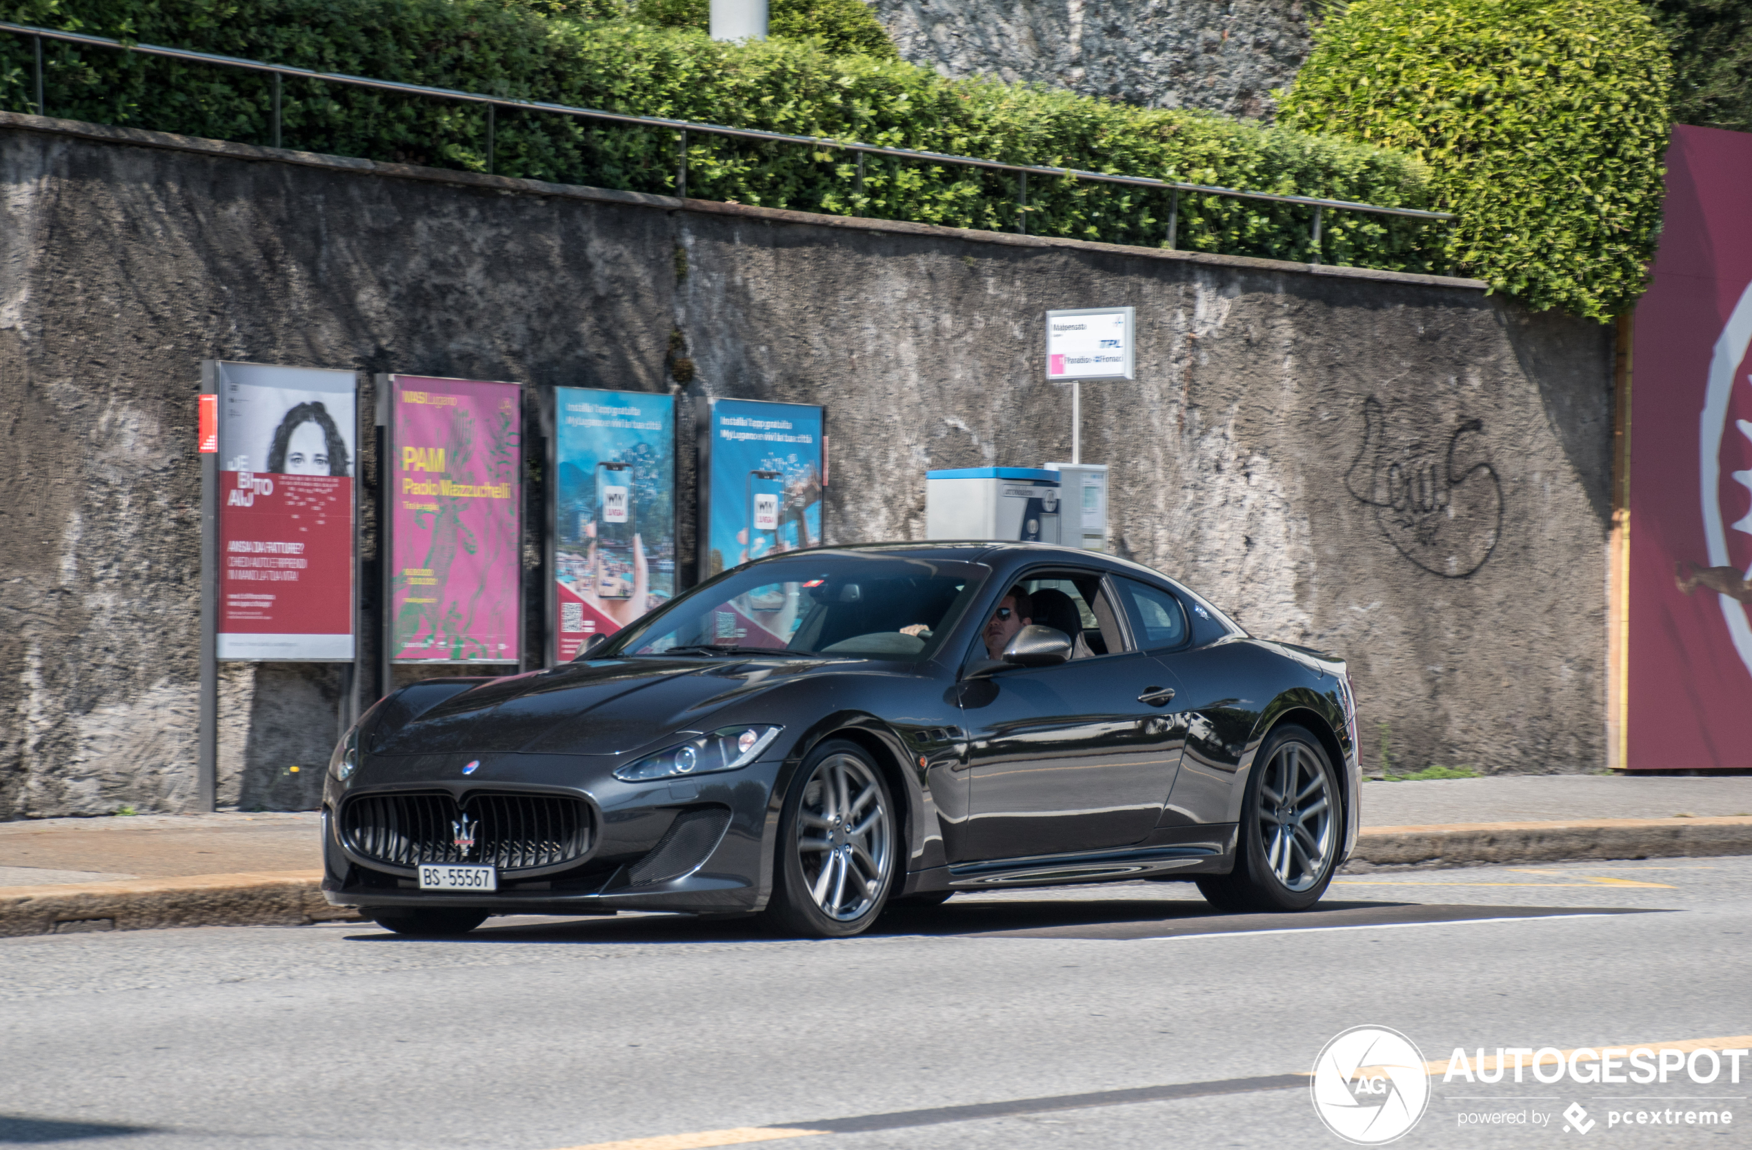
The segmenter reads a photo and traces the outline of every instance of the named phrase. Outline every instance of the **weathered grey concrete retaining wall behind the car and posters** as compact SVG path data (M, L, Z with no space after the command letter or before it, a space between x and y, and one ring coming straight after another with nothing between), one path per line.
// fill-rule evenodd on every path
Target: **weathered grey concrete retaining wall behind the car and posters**
M1139 314L1139 380L1084 387L1123 554L1349 656L1370 764L1377 722L1407 770L1601 764L1605 328L1470 280L11 114L0 181L0 817L193 799L203 358L671 389L685 444L704 396L825 403L829 540L918 538L925 468L1069 456L1041 316L1097 303ZM338 671L221 687L221 801L308 805Z

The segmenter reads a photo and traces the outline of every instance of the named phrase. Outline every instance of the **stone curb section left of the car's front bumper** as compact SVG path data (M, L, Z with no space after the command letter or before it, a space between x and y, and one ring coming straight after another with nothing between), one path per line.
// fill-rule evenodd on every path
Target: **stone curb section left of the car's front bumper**
M173 926L307 926L357 917L354 910L328 905L322 871L0 887L0 938Z

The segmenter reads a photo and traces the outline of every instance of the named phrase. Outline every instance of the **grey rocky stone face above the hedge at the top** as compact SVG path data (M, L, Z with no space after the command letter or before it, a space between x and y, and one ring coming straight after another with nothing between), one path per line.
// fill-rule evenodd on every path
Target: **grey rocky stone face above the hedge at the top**
M867 0L901 56L992 75L1270 117L1312 49L1312 0Z

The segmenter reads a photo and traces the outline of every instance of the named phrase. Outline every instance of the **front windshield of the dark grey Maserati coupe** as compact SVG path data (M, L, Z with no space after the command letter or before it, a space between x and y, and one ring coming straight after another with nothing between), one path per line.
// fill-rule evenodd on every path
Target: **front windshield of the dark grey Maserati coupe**
M802 552L725 571L589 657L781 654L925 659L979 584L979 563Z

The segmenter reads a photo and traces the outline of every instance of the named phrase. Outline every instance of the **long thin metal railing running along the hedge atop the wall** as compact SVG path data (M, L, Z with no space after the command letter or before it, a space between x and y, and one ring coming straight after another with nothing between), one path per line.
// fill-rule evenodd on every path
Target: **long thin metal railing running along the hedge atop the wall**
M1032 163L1009 163L1004 160L979 160L976 156L951 156L946 153L927 153L911 147L885 147L881 144L860 144L857 140L836 140L832 137L818 135L787 135L783 131L764 131L760 128L731 128L725 124L703 124L690 119L668 119L661 116L631 116L627 112L604 112L603 109L585 109L571 107L568 103L548 103L543 100L517 100L513 96L492 96L478 91L457 91L454 88L431 88L427 84L403 84L399 81L380 81L368 75L349 75L345 72L315 72L312 68L296 68L280 63L263 63L259 60L244 60L242 56L219 56L214 53L196 53L184 47L163 47L158 44L124 44L123 40L110 40L107 37L84 35L79 32L56 32L53 28L35 28L32 25L14 25L0 21L0 32L12 32L18 35L26 35L35 40L35 82L37 82L37 114L47 116L47 103L44 102L44 67L42 67L42 42L44 40L61 40L67 44L82 44L88 47L109 47L124 53L140 53L145 56L165 56L168 60L186 60L189 63L205 63L224 68L240 68L245 72L266 72L273 77L273 112L272 112L272 137L273 147L280 147L280 86L286 77L301 81L321 81L324 84L347 84L352 88L375 88L380 91L394 91L408 96L431 96L438 100L454 100L459 103L482 103L487 109L487 138L485 138L485 158L487 172L494 170L494 112L496 109L515 109L522 112L552 112L557 116L571 116L578 119L601 119L618 124L634 124L639 128L668 128L682 133L680 156L676 160L675 175L675 195L687 198L687 135L690 131L701 135L720 135L738 140L759 140L766 144L804 144L816 149L837 149L846 153L857 153L858 167L855 177L855 193L864 195L864 158L865 156L887 156L895 161L922 161L922 163L941 163L964 168L985 168L990 172L1013 172L1016 174L1016 231L1027 235L1028 230L1028 177L1046 175L1053 179L1076 179L1091 181L1102 184L1125 184L1132 188L1155 188L1170 193L1169 200L1169 226L1165 233L1167 245L1172 249L1176 245L1176 231L1179 230L1179 210L1181 210L1181 193L1193 195L1211 195L1211 196L1230 196L1235 200L1263 200L1270 203L1295 203L1302 207L1314 209L1314 223L1310 242L1314 247L1314 263L1321 261L1321 228L1325 212L1363 212L1372 216L1403 216L1410 219L1430 219L1430 221L1451 221L1452 212L1428 212L1414 207L1382 207L1379 203L1358 203L1353 200L1323 200L1319 196L1286 196L1272 191L1242 191L1239 188L1219 188L1214 184L1188 184L1183 181L1163 181L1149 175L1121 175L1116 172L1088 172L1083 168L1056 168L1048 165Z

